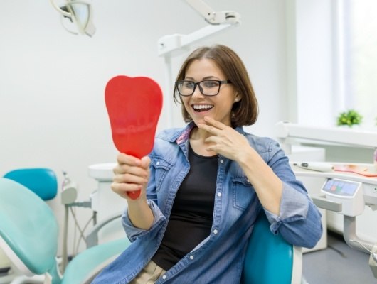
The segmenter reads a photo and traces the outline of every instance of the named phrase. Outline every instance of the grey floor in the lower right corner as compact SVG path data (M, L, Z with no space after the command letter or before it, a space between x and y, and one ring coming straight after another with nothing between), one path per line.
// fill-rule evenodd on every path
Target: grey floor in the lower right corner
M377 284L369 255L351 249L339 234L329 231L327 249L304 253L302 274L309 284Z

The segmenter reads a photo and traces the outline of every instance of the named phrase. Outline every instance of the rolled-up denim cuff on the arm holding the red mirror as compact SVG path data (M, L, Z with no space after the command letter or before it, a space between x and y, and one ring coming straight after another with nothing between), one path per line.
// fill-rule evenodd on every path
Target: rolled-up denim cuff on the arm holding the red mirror
M154 236L156 236L157 231L159 231L161 228L162 224L166 222L166 217L164 217L164 214L162 214L156 203L154 203L152 200L147 200L147 203L154 216L152 226L148 230L135 227L129 219L127 209L122 214L122 225L130 241L135 241L138 238L144 237L153 239Z

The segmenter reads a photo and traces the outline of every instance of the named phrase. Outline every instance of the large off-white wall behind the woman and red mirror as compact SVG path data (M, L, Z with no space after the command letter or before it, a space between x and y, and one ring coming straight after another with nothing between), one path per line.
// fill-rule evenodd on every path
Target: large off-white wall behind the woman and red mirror
M285 1L206 3L241 14L240 27L203 43L229 45L243 58L260 102L260 119L248 130L273 136L275 123L287 119ZM97 186L88 165L113 162L117 154L104 104L107 81L142 75L164 87L159 38L206 25L178 0L92 1L92 7L97 27L92 38L65 31L48 0L2 0L0 9L0 175L48 167L61 182L65 170L80 185L79 201ZM174 74L182 60L174 59ZM166 124L164 109L159 129ZM183 125L179 107L174 124ZM62 223L60 197L48 204ZM78 215L83 224L90 210L78 209Z

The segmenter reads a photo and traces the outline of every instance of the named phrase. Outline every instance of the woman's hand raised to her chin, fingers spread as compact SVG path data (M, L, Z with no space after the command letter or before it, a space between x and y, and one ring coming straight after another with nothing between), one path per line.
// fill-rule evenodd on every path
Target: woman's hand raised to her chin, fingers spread
M204 117L204 121L206 124L198 124L198 128L212 134L205 141L209 144L206 148L207 151L214 151L235 161L240 161L250 151L253 151L248 140L230 126L207 116Z

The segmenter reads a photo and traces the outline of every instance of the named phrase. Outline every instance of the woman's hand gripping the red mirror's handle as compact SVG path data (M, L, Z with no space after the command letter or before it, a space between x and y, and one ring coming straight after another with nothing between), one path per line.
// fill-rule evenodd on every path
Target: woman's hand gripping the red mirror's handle
M115 166L114 178L111 188L114 192L128 202L137 200L146 200L146 187L149 180L149 157L142 159L135 158L132 155L120 153L117 156L117 165ZM130 198L127 192L141 190L136 200Z

